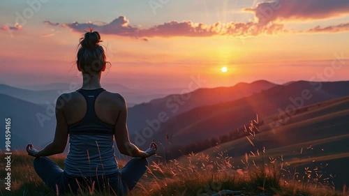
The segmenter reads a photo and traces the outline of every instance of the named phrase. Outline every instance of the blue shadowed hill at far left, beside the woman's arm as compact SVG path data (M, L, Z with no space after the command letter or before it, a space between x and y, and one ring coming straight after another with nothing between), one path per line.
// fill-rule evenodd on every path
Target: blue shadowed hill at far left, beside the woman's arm
M13 150L23 150L29 142L41 146L53 140L56 119L50 116L50 110L3 94L0 94L0 100L0 119L3 121L3 125L5 118L11 118L11 148ZM40 123L37 114L43 114L50 119ZM5 134L0 134L0 140L5 141L4 138ZM5 147L3 144L1 144L0 149Z

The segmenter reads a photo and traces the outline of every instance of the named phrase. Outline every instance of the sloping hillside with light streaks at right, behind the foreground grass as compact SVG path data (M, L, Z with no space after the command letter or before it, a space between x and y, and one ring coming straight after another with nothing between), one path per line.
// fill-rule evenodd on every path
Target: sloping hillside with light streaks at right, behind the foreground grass
M255 160L258 162L260 156L256 156L257 151L261 153L265 149L265 159L268 160L269 156L280 159L283 156L283 161L293 173L297 171L303 174L306 167L313 171L313 175L321 170L322 179L331 178L336 188L341 188L349 183L349 169L346 167L349 164L348 119L349 97L330 100L320 105L310 105L308 110L295 114L279 128L270 130L269 124L258 126L259 131L253 130L258 133L255 136L247 128L247 133L252 134L248 138L226 142L201 153L210 157L217 153L232 156L238 167L244 168L246 156L247 160L258 157ZM185 157L179 160L188 163ZM251 160L249 164L252 164ZM293 178L291 173L288 178Z

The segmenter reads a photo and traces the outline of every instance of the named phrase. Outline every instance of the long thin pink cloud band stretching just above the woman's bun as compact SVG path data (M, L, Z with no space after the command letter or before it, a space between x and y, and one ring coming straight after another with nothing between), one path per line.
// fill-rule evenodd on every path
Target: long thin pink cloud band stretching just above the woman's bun
M45 24L56 24L53 22L45 22ZM58 24L57 24L58 25ZM174 36L186 36L186 37L209 37L209 36L258 36L259 34L274 34L283 30L283 25L265 25L248 22L248 23L235 23L230 22L222 24L216 22L214 24L194 23L191 21L184 22L165 22L164 24L155 25L148 29L140 29L138 27L132 27L130 22L124 16L120 16L113 20L109 24L97 25L93 22L79 23L73 22L70 24L62 24L62 27L68 27L74 31L84 32L91 28L96 31L105 34L114 34L118 36L128 36L133 38L143 38L147 40L151 37L174 37Z

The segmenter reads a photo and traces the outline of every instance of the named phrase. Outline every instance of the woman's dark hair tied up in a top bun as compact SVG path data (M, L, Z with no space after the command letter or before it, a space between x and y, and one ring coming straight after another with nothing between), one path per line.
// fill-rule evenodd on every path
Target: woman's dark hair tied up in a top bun
M100 34L92 29L89 29L84 37L80 38L76 63L82 68L82 73L95 75L109 63L103 47L99 45L100 42L102 42Z

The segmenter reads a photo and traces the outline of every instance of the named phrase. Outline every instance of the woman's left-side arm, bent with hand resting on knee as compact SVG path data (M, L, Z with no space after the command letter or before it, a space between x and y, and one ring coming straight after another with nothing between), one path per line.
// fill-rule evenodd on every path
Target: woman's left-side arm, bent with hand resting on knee
M67 97L67 96L66 96ZM64 117L64 98L59 96L56 103L56 133L54 134L54 140L45 146L41 151L37 151L33 148L31 144L27 146L27 151L30 156L51 156L57 153L62 153L66 148L66 143L68 141L68 124L66 118Z

